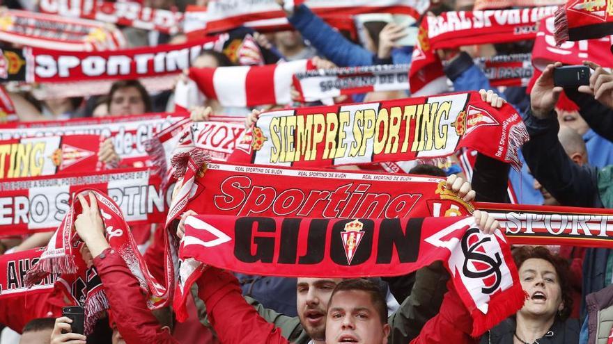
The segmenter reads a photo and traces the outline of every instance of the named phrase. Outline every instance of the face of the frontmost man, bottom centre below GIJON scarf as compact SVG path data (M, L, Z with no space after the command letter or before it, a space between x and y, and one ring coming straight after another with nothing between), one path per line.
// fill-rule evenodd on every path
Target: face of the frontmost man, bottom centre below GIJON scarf
M371 295L362 290L336 292L328 309L326 344L387 344L389 325L382 324Z

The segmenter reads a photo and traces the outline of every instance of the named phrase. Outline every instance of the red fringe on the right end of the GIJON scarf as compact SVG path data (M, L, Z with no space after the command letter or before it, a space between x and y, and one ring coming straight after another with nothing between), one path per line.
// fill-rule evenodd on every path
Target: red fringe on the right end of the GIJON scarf
M515 314L515 312L522 308L524 302L524 291L520 283L513 284L511 288L492 296L490 302L488 302L487 315L476 308L470 312L474 319L470 335L473 338L478 338L488 329L495 327L502 320Z

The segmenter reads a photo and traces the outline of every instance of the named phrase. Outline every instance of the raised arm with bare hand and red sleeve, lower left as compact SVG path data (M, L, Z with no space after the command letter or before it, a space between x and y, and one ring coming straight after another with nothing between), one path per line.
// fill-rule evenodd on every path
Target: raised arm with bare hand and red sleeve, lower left
M77 215L75 229L94 257L93 263L102 280L117 329L125 342L177 344L178 341L172 338L168 329L162 328L148 309L139 281L127 268L121 254L109 247L93 193L89 194L89 204L83 194L77 197L83 211Z

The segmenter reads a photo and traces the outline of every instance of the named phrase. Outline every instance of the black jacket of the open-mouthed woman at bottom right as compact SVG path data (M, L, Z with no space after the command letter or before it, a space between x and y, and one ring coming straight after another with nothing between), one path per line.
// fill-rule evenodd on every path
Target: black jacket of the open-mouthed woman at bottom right
M515 318L507 318L483 334L479 343L513 344L515 326ZM537 339L536 342L538 344L577 344L579 343L579 331L579 322L575 319L568 319L564 322L556 320L547 334Z

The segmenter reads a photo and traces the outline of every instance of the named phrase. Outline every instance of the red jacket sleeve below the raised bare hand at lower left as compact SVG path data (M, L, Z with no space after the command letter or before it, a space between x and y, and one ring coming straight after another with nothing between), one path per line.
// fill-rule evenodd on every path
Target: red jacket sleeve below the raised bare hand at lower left
M107 248L93 259L104 285L117 329L125 343L178 344L168 329L162 329L148 309L139 282L114 249Z

